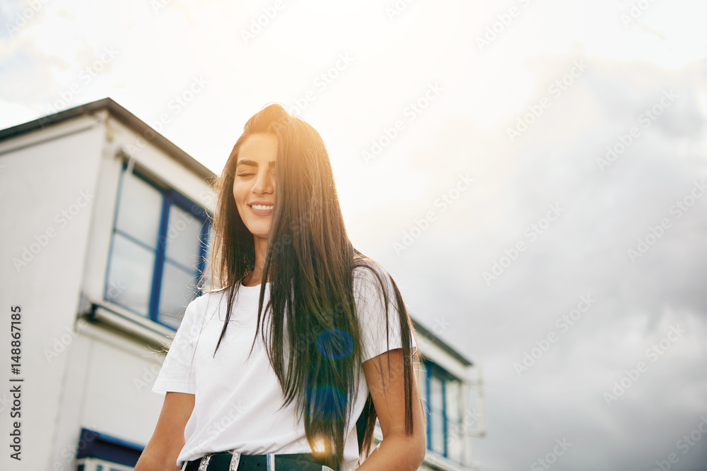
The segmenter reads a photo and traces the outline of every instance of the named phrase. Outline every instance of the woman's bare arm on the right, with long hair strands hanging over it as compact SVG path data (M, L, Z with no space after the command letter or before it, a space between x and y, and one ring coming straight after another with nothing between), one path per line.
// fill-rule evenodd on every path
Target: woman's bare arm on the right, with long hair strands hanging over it
M387 354L390 353L390 367ZM363 362L368 390L378 415L383 441L358 467L358 471L417 470L425 459L427 434L420 389L412 380L413 434L405 434L405 390L402 349L390 350ZM381 378L382 372L382 378Z

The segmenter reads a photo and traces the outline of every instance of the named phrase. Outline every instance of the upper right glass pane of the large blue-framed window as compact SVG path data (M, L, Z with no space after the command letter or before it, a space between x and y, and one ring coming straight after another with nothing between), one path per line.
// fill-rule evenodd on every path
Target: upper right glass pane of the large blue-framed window
M199 233L201 220L177 205L170 205L170 216L167 220L165 256L171 261L181 263L194 272L199 266Z

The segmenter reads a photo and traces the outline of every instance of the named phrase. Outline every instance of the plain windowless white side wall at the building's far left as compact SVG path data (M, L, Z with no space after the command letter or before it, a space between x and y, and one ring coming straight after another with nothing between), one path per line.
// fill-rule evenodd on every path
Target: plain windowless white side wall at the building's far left
M15 304L22 308L22 366L16 377L24 378L22 461L2 453L3 470L39 471L49 462L69 357L47 352L62 350L62 336L71 338L66 329L74 323L83 278L103 136L100 121L81 117L0 143L0 299L4 311ZM27 261L16 268L13 258L22 261L23 251ZM9 327L3 326L5 338ZM1 345L7 362L10 344ZM6 409L12 406L9 388L2 390L0 433L7 443Z

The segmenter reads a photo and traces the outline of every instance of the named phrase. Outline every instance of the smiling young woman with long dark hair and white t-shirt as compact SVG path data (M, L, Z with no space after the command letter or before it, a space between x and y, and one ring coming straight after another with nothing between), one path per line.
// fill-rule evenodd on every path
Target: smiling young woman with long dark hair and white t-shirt
M418 469L414 329L395 281L346 235L319 133L264 107L216 190L218 289L187 305L135 470Z

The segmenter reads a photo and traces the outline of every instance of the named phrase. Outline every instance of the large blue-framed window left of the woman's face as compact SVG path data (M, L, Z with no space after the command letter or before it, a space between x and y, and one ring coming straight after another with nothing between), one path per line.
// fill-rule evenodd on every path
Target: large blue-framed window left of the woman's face
M200 294L196 284L211 256L211 235L201 206L124 162L105 299L176 329Z

